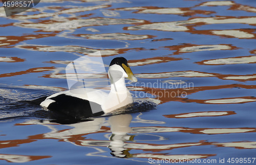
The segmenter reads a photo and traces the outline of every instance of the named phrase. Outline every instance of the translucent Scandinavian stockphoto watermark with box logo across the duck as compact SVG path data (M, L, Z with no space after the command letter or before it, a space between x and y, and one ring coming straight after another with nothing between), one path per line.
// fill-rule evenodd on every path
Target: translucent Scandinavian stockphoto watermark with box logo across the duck
M120 85L121 79L127 76L125 74L115 67L109 68L107 72L100 51L82 56L66 67L66 79L71 94L80 95L80 97L90 100L90 98L95 97L93 95L95 92L102 93L105 92L106 88L111 87L112 93L115 93L112 97L113 107L127 97L131 97L127 96L126 92L116 88ZM132 86L128 87L132 97L139 98L185 98L187 96L186 91L194 89L193 82L187 83L182 80L160 81L156 79L153 82L129 81L128 84ZM93 102L90 102L90 106L93 114L100 111Z

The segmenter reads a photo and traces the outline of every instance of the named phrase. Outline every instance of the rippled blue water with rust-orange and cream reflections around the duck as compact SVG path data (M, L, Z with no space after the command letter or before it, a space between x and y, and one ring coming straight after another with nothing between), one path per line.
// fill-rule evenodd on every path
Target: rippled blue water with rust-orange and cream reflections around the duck
M0 20L1 164L252 163L254 1L41 0ZM20 102L67 90L66 66L98 50L138 78L129 112L60 122Z

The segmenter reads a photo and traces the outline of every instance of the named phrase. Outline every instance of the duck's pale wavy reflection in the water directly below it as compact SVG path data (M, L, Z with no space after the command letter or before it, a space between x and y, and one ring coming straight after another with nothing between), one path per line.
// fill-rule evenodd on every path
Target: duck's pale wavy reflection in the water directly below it
M133 131L129 126L132 119L133 117L130 114L114 115L109 117L109 120L106 120L106 118L95 118L92 121L70 124L69 126L73 128L66 130L57 130L53 125L46 124L52 131L44 135L48 138L62 139L80 146L105 146L110 148L111 155L128 158L132 157L129 153L131 149L125 148L125 142L133 141L135 136L127 134ZM110 125L110 130L109 127L106 127L108 125ZM110 141L87 140L82 137L93 133L106 133L110 131L112 132L109 137ZM105 135L108 136L109 133Z

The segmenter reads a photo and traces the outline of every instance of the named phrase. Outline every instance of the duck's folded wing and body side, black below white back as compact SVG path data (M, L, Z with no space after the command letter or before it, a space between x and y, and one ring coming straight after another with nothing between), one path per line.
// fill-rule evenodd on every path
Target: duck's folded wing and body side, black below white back
M53 94L40 105L51 111L81 119L104 114L101 104L106 96L108 94L103 91L82 88Z

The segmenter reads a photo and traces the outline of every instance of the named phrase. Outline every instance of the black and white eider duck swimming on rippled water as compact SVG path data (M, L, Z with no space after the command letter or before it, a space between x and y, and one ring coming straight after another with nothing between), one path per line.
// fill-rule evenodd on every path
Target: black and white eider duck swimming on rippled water
M88 118L110 113L117 108L133 103L133 97L126 88L124 78L137 81L127 60L115 58L109 66L110 93L96 89L74 89L30 101L46 110L57 112L75 119Z

